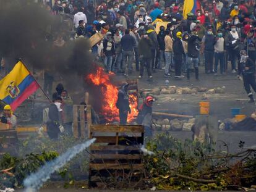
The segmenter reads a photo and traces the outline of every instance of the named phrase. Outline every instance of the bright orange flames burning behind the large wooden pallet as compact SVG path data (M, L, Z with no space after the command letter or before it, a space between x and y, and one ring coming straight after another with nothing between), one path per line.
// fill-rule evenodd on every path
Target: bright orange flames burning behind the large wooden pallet
M108 122L119 121L119 111L116 107L118 88L109 78L113 75L114 73L106 73L102 67L98 67L95 74L90 73L87 77L87 80L98 86L101 94L105 96L100 113ZM136 93L129 93L129 102L131 113L128 114L127 122L132 122L138 115Z

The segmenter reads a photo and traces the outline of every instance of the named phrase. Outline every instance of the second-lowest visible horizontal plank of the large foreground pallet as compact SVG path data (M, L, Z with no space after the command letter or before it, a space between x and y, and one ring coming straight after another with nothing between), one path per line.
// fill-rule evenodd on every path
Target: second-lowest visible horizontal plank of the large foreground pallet
M91 159L141 159L140 154L91 154L90 157Z

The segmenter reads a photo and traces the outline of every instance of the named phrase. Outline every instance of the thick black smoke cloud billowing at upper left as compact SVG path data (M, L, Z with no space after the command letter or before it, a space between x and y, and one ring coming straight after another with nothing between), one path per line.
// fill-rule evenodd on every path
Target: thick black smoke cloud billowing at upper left
M94 72L88 40L69 40L70 31L61 15L29 0L0 0L0 57L7 67L22 58L29 69L59 73L69 91L81 90L84 77ZM53 46L58 35L65 46ZM51 96L50 96L51 97Z

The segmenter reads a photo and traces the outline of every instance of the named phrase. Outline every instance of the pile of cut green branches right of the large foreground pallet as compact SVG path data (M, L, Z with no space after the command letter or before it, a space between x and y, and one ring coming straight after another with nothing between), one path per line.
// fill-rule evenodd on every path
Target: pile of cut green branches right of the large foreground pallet
M229 185L255 182L252 175L256 175L256 151L252 151L254 155L247 153L246 161L231 164L231 158L215 151L213 146L198 141L182 142L166 133L148 141L147 149L155 154L144 157L145 170L151 186L159 190L225 190Z

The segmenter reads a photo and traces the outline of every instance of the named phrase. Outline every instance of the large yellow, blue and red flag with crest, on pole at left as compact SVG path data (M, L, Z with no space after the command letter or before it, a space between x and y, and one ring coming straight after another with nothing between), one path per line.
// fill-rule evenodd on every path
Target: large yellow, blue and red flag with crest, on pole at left
M19 61L14 69L0 81L0 99L15 111L39 87L27 67Z

